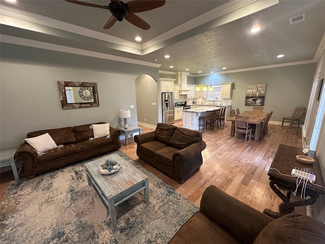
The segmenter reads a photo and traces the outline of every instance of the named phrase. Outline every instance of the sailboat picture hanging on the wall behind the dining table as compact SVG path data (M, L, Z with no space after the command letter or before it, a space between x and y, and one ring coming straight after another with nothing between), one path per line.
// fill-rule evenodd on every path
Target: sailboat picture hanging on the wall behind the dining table
M266 83L247 84L245 105L247 106L264 106Z

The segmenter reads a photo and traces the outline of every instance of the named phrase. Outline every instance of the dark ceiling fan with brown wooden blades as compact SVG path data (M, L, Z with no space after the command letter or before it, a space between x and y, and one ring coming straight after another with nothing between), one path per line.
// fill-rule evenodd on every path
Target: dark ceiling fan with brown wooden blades
M165 0L163 1L135 0L124 4L122 1L119 0L111 0L111 3L108 6L105 5L102 6L102 5L90 4L90 3L85 3L81 1L75 1L75 0L66 0L66 1L74 4L88 6L88 7L108 9L109 11L111 11L112 16L106 22L103 29L109 29L110 27L113 26L113 24L115 24L116 20L122 21L123 19L126 19L128 22L142 29L149 29L150 25L146 21L144 21L143 19L135 15L134 13L144 12L144 11L161 7L166 2Z

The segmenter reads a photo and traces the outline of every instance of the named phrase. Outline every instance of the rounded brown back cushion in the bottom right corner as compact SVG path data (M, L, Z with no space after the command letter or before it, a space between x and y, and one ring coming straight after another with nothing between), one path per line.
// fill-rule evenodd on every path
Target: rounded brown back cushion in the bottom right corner
M325 225L300 212L291 212L268 224L253 242L253 244L274 243L323 244Z

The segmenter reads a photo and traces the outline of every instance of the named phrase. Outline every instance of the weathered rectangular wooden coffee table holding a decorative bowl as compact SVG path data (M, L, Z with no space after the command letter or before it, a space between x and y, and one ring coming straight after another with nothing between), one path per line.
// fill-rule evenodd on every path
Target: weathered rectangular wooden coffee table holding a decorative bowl
M119 162L122 167L113 174L103 175L100 173L101 165L109 159ZM148 176L117 154L86 163L85 169L88 185L94 186L109 209L113 229L117 224L115 206L142 190L144 200L149 201Z

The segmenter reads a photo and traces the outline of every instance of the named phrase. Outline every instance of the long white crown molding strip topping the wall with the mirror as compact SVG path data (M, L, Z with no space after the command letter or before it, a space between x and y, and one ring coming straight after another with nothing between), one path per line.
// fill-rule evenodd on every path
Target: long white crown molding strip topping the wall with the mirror
M34 41L34 40L29 40L29 39L24 39L19 37L12 37L7 35L0 35L0 40L1 42L4 43L16 44L16 45L27 46L27 47L35 47L35 48L58 51L58 52L79 54L79 55L89 56L89 57L98 57L98 58L109 59L109 60L135 64L135 65L143 65L143 66L149 66L154 68L159 68L161 66L160 64L154 64L154 63L145 62L137 59L115 56L115 55L101 53L101 52L88 51L84 49L67 47L67 46L62 46L57 44L46 43L46 42Z

